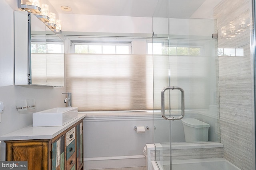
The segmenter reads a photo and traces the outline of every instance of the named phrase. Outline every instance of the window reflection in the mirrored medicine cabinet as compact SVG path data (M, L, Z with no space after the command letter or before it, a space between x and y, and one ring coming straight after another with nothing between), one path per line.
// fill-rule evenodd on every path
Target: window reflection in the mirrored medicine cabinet
M32 84L64 86L63 44L31 44Z

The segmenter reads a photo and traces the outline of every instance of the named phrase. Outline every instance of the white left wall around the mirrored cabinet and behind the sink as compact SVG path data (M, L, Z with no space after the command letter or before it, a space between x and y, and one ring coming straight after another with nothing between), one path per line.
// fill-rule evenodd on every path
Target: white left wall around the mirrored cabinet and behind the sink
M16 100L36 100L36 109L41 111L52 107L64 107L64 88L45 86L14 85L14 10L18 1L1 0L1 20L8 26L0 31L0 101L4 102L4 112L0 114L0 136L32 124L32 112L18 113ZM5 143L1 143L1 160L5 160Z

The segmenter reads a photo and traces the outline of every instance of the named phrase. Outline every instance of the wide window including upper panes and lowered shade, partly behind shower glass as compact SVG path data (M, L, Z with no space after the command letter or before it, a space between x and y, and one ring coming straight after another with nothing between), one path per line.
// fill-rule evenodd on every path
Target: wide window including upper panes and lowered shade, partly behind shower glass
M214 63L209 61L215 61L215 57L211 57L209 51L204 51L207 46L204 42L202 45L202 41L197 41L191 46L189 43L179 43L176 46L173 43L171 47L161 42L156 43L154 54L158 55L154 55L156 57L152 64L153 43L149 43L148 39L140 39L134 44L144 47L144 53L147 49L149 55L136 55L131 54L132 43L125 39L119 44L117 41L110 42L106 39L100 41L98 37L95 41L76 38L70 38L67 43L67 47L71 48L65 54L65 77L66 91L72 92L72 105L78 107L79 111L160 109L161 100L155 101L153 106L153 93L155 89L159 90L154 95L160 98L161 88L168 85L170 80L166 74L168 72L172 75L172 83L182 84L189 92L189 97L192 93L193 96L194 93L197 94L193 106L189 107L208 107L206 103L209 101L205 100L208 99L208 94L201 93L202 84L209 87L207 73L212 67L209 67L208 63ZM127 48L129 54L117 52ZM170 56L166 55L168 53ZM160 68L154 72L154 89L153 66ZM207 88L203 90L207 91ZM178 108L179 103L176 106Z

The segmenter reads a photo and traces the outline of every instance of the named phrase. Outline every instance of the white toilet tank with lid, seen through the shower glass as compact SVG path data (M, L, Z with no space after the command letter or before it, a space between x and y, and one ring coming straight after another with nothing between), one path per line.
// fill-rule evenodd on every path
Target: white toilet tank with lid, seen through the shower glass
M181 121L186 142L208 141L208 123L195 118L183 118Z

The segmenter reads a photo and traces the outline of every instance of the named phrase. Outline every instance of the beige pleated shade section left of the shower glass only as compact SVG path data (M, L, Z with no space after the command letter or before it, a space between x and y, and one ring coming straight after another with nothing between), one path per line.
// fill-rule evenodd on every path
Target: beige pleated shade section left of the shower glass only
M153 109L152 55L66 54L66 92L79 111Z

